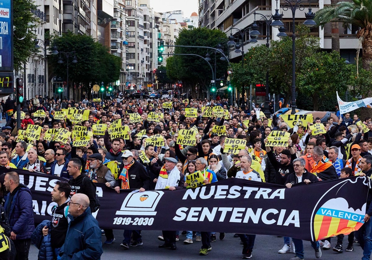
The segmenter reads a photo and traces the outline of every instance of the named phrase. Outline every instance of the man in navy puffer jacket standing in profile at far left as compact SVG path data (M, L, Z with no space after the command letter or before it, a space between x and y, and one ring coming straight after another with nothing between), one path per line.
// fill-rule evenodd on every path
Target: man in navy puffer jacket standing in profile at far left
M19 183L16 172L8 172L4 178L6 195L4 208L10 226L10 239L16 247L18 260L28 259L31 234L35 229L33 221L31 191L23 183Z

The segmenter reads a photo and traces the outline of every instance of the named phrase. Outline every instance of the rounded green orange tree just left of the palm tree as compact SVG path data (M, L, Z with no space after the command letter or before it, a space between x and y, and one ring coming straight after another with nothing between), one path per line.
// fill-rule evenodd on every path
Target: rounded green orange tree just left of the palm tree
M296 75L297 91L309 95L318 110L324 100L335 100L336 91L346 91L350 72L338 52L315 52L304 58Z

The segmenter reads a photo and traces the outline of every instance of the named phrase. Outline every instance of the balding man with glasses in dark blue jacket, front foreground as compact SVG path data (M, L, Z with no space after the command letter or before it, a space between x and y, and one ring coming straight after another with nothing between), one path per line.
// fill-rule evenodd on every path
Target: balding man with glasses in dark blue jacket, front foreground
M68 230L59 255L61 260L100 259L103 249L101 229L92 216L87 195L77 193L68 202Z

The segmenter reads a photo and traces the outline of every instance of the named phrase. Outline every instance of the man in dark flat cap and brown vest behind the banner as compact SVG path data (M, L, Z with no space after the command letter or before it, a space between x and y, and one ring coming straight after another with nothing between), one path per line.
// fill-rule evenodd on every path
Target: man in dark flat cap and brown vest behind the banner
M116 185L116 181L112 176L111 170L102 164L102 160L102 155L100 153L93 153L92 155L87 156L87 161L89 162L89 179L92 182L105 183L105 185L109 188L118 186ZM119 191L117 192L119 193ZM112 242L115 241L112 229L105 229L105 236L105 244L112 244Z

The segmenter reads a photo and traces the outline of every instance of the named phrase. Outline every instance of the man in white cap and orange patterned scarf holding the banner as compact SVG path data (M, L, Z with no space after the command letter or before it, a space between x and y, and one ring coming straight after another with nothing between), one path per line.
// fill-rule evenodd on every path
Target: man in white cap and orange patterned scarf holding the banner
M133 153L129 150L125 150L121 157L123 158L123 164L119 170L118 186L115 187L115 191L119 193L120 189L139 189L140 192L148 190L151 179L142 164L133 158ZM134 242L130 244L132 232ZM143 245L141 230L124 230L123 235L124 239L123 243L120 244L121 247L129 249L129 244L132 247Z

